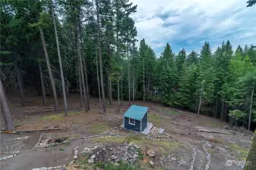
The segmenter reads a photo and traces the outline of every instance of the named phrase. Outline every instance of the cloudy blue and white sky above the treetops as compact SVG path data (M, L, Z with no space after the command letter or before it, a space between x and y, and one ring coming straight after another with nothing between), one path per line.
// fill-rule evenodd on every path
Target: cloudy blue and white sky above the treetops
M131 0L137 5L132 17L137 39L145 39L156 54L167 42L175 53L200 51L205 41L211 48L229 39L233 48L256 45L256 6L246 0Z

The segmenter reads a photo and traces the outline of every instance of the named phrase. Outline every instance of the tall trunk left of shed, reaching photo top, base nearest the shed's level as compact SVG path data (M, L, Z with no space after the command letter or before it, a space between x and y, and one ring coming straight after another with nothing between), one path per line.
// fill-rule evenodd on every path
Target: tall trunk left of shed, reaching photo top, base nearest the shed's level
M100 84L101 92L103 97L103 113L106 113L106 100L105 100L105 90L104 90L104 81L103 81L103 58L101 55L101 45L100 45L100 18L99 18L99 2L96 0L96 17L97 17L97 32L98 32L98 48L99 48L99 57L100 57Z

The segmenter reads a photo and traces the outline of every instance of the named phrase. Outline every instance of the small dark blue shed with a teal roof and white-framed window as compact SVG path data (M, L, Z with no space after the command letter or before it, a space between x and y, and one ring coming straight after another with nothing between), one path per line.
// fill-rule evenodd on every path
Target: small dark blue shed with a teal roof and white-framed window
M144 131L147 127L147 107L132 105L124 114L124 128Z

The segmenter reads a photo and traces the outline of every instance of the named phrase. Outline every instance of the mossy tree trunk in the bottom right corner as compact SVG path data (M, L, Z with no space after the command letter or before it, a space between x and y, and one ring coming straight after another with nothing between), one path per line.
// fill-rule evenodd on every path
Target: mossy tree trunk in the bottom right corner
M244 170L255 170L256 169L256 131L251 141L251 148L249 150Z

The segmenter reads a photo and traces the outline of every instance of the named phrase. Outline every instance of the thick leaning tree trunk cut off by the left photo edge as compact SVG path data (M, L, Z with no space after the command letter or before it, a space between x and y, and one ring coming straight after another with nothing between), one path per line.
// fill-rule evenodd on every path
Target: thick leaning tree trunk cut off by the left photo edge
M14 123L12 122L12 119L11 119L11 113L10 113L8 104L6 102L5 91L4 91L1 80L0 80L0 101L1 101L2 113L5 119L5 131L12 131L14 130Z

